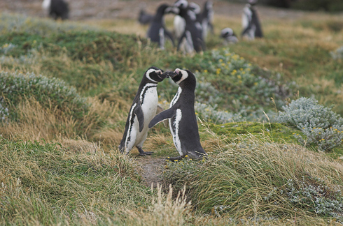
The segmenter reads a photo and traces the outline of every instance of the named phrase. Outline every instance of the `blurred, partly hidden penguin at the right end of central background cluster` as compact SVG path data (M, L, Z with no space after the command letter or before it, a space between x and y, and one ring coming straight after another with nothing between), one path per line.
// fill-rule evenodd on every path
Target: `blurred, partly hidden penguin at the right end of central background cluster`
M198 16L198 19L202 25L202 39L206 40L207 33L211 31L214 33L214 5L212 1L206 1L202 13Z

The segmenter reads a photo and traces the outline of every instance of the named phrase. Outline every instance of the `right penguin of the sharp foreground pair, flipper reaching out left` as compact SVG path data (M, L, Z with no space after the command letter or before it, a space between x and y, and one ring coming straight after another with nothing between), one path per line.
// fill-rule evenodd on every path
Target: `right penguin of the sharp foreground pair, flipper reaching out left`
M169 109L156 115L149 123L149 128L160 121L169 119L169 128L174 145L180 154L179 157L169 158L169 160L180 160L185 156L193 159L207 156L200 143L197 117L194 110L194 92L197 83L195 76L189 70L179 68L174 73L169 72L168 75L176 84L179 84L179 89L170 103Z

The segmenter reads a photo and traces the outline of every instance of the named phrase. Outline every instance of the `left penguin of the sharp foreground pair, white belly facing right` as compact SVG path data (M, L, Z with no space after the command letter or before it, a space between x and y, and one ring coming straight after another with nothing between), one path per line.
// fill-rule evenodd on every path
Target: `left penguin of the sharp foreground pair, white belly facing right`
M167 74L156 67L151 67L144 73L118 147L122 153L128 154L136 146L141 156L151 155L152 152L144 152L142 146L148 135L148 123L156 115L158 108L158 82L162 82L166 77Z

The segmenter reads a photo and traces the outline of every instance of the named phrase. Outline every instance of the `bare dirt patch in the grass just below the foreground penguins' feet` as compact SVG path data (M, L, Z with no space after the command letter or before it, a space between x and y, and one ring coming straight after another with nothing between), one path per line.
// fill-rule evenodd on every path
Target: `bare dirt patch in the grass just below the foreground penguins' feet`
M162 167L165 164L165 158L153 158L152 156L143 156L137 158L137 162L141 165L141 176L146 186L156 188L158 183L162 184L161 174Z

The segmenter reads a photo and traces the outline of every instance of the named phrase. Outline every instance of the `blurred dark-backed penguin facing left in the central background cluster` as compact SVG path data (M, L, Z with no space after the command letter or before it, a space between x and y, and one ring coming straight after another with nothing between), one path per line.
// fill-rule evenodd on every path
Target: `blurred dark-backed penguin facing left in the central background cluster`
M204 40L202 39L202 27L201 24L197 22L196 14L190 8L188 1L176 1L174 7L179 8L179 13L177 13L177 15L181 16L186 23L184 31L178 41L178 50L180 50L181 44L185 39L185 52L204 51L206 47L204 45Z

